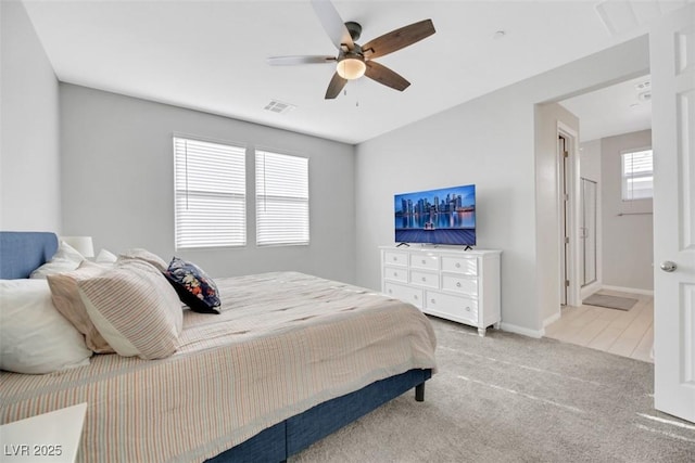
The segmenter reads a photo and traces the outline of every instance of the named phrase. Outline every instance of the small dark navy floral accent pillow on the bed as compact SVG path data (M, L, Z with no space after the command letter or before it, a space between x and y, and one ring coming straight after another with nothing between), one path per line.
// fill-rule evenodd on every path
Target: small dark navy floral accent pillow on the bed
M195 263L174 257L164 275L178 293L178 297L191 310L201 313L219 313L219 291L212 278Z

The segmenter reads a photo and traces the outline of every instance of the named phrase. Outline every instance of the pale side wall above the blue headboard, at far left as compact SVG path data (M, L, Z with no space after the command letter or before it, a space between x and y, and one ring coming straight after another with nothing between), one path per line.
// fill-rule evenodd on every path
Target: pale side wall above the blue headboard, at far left
M24 5L0 16L0 229L60 232L58 80Z

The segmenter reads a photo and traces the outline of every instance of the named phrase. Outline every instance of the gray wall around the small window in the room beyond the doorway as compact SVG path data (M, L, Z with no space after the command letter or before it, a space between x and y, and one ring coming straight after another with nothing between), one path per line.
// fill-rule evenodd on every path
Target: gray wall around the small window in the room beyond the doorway
M649 146L652 130L601 140L604 286L645 292L654 290L652 200L623 202L620 179L620 153Z

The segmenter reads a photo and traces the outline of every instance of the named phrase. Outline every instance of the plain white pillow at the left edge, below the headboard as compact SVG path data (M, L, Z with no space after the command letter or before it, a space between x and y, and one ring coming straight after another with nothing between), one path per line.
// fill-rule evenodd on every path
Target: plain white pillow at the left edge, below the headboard
M0 280L0 368L42 374L89 364L83 335L61 316L46 280Z

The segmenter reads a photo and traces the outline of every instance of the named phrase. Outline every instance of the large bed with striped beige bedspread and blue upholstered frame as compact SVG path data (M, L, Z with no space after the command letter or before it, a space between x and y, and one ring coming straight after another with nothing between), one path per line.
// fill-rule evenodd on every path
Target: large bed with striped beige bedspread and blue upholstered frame
M56 247L0 232L0 278L27 278ZM168 358L3 371L0 423L87 402L81 461L279 462L410 389L424 400L435 339L413 306L296 272L216 280L232 307L185 310Z

